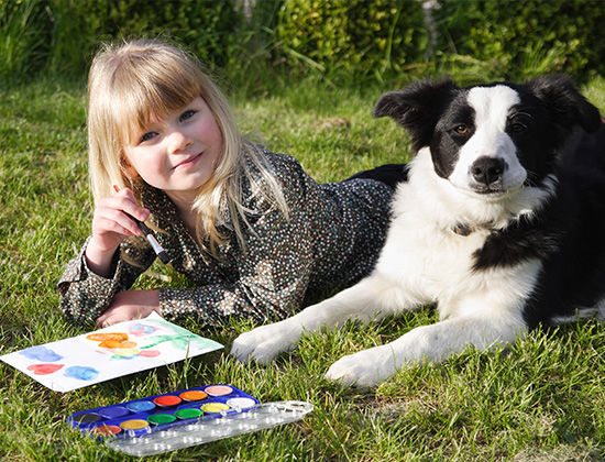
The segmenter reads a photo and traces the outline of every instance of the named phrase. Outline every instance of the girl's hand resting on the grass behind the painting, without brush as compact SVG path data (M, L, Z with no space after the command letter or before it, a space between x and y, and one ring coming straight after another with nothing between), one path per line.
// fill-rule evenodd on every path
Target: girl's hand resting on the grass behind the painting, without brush
M97 318L97 326L105 328L118 322L143 319L154 311L161 315L158 290L119 292L109 308Z

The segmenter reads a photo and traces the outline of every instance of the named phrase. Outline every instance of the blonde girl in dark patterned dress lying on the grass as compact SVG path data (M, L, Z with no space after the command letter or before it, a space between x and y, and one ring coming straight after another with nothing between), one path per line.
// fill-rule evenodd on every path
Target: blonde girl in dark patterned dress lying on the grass
M244 140L197 59L158 41L106 46L88 81L92 232L58 289L76 322L278 320L350 285L381 249L400 166L318 185ZM364 177L377 176L381 180ZM195 288L128 290L155 260L146 221Z

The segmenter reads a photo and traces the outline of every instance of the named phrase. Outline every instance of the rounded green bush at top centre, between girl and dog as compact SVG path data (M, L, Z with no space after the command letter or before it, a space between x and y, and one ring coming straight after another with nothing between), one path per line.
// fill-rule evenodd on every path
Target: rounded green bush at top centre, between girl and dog
M414 0L286 0L277 35L290 65L328 76L398 73L429 43Z

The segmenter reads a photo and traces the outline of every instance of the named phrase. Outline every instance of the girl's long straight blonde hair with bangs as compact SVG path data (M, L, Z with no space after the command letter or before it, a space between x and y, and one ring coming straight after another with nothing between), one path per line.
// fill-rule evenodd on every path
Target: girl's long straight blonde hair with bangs
M227 98L201 70L199 61L168 43L133 40L106 44L92 62L87 114L92 196L97 202L110 196L117 185L131 187L141 202L136 183L142 179L127 175L124 145L133 133L148 125L152 117L162 119L198 97L212 111L223 146L213 175L200 187L191 208L197 216L196 238L216 255L217 244L227 239L217 229L227 224L221 212L227 199L232 229L245 251L242 222L248 226L246 215L257 211L241 204L243 178L249 178L254 196L288 218L282 186L262 151L240 134Z

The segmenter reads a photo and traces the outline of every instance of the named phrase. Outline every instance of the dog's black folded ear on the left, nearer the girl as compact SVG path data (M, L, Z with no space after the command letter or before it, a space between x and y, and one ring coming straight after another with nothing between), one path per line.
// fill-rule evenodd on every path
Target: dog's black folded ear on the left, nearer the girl
M381 97L372 116L391 117L411 135L416 151L428 146L444 108L460 88L449 79L417 81Z

